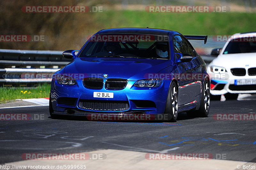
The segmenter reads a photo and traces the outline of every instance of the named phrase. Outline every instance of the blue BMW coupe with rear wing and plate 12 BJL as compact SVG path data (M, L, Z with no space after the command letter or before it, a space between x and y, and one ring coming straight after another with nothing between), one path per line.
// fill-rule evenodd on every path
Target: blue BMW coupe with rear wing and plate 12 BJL
M207 117L210 79L188 40L206 43L207 36L152 28L100 30L81 50L63 52L73 60L53 74L51 117L167 115L176 121L179 112Z

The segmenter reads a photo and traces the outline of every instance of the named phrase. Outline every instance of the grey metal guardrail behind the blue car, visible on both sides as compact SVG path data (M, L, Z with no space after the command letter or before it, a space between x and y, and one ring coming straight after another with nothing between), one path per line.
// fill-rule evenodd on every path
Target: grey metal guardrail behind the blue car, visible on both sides
M62 57L63 51L0 49L0 85L51 82L51 75L67 65L71 59ZM202 56L205 63L215 57ZM48 75L46 78L23 79L22 74Z

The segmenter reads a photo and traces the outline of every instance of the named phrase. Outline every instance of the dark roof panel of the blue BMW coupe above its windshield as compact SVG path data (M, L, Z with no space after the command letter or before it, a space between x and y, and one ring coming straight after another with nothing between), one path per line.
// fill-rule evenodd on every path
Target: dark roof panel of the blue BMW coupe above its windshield
M171 30L156 29L156 28L111 28L100 30L97 34L148 34L148 35L161 35L168 36Z

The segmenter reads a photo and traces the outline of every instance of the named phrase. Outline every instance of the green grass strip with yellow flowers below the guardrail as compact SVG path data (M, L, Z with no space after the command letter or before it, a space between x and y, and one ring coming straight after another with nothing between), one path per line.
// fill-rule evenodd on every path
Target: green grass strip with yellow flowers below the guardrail
M49 97L51 85L42 84L35 88L0 88L0 103L6 103L15 99L26 99L26 98L45 98ZM23 92L21 92L23 91ZM27 92L26 92L27 91ZM29 93L31 92L31 93Z

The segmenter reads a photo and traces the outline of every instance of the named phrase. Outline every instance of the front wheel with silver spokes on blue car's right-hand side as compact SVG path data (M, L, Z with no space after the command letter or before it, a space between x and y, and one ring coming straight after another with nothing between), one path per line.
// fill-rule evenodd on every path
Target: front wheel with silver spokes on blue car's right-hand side
M178 88L172 81L168 91L168 97L165 106L165 113L171 122L175 122L178 117Z

